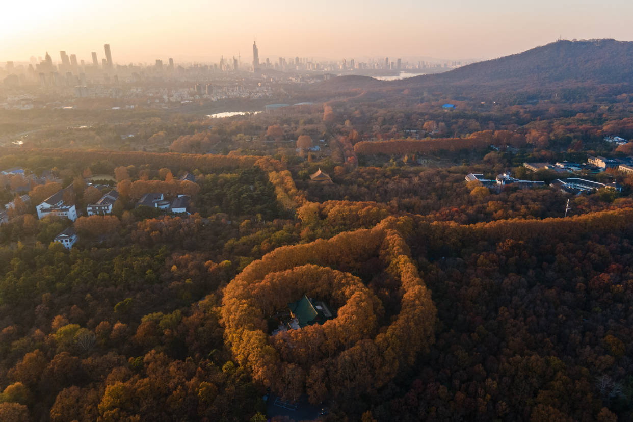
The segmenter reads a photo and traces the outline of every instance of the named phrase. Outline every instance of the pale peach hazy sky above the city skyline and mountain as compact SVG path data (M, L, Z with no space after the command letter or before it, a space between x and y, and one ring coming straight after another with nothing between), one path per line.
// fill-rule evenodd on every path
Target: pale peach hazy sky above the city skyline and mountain
M31 0L3 2L0 61L61 50L115 63L210 61L253 36L266 57L494 58L565 39L632 40L631 0Z

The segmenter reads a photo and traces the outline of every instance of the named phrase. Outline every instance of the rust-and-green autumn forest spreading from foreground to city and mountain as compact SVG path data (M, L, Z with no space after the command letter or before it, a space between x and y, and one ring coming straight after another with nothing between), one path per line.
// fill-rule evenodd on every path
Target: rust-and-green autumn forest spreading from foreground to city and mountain
M633 419L633 80L504 60L0 111L0 420Z

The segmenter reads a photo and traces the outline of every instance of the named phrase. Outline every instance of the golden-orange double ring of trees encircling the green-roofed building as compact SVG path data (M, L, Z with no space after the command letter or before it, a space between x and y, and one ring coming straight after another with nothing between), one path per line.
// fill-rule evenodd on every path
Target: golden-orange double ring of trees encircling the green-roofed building
M436 308L400 233L406 227L390 217L249 264L223 297L237 362L273 391L292 399L307 393L315 403L372 392L413 364L434 340ZM365 285L350 272L367 267L373 276ZM335 318L270 335L266 320L304 294L329 301Z

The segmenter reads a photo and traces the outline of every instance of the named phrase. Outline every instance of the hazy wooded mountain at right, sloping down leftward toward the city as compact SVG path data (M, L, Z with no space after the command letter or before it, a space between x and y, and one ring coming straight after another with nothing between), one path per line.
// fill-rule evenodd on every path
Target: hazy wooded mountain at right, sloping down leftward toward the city
M615 101L633 94L633 42L613 39L558 40L497 59L401 80L342 76L312 84L308 97L335 94L401 102L494 101L523 104L539 100ZM306 100L307 101L307 100ZM313 100L310 100L313 101Z

